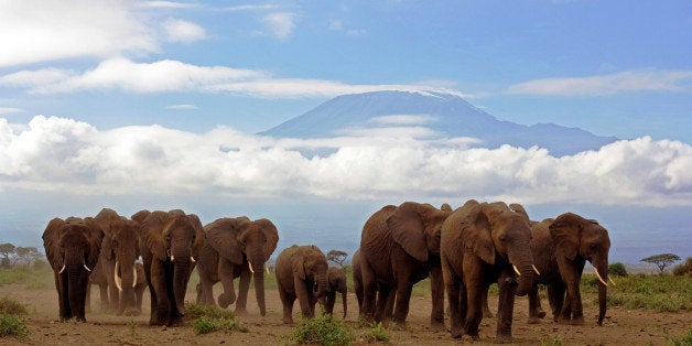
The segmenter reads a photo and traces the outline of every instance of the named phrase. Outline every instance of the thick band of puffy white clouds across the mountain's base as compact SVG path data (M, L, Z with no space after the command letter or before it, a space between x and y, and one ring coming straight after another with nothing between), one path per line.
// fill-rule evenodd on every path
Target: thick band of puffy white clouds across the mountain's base
M229 128L99 131L63 118L37 116L25 126L0 118L0 191L692 205L692 147L682 142L645 137L554 158L539 148L468 148L473 140L398 129L296 140Z

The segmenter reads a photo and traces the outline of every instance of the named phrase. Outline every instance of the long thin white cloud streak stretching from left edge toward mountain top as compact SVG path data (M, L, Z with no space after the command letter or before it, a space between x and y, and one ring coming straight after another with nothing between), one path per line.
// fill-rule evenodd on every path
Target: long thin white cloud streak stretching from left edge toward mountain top
M32 94L119 88L134 93L220 91L252 97L299 98L378 90L430 90L465 97L452 89L419 83L349 85L334 80L278 78L263 71L197 66L170 60L136 63L122 57L106 60L97 67L82 73L55 68L21 71L0 76L0 85L24 87Z

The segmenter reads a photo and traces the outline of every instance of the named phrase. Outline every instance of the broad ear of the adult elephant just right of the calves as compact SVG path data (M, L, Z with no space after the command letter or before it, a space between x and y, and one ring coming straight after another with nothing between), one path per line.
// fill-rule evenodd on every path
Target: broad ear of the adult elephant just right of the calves
M431 206L432 207L432 206ZM392 239L414 259L428 261L428 244L423 225L422 206L414 202L404 202L387 219Z

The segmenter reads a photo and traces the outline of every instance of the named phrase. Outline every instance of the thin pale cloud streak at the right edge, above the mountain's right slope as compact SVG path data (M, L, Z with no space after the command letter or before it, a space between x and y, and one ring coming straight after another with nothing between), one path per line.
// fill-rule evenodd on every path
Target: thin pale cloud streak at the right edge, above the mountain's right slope
M534 79L509 87L509 94L547 96L607 96L628 91L692 90L692 71L628 71L573 78Z

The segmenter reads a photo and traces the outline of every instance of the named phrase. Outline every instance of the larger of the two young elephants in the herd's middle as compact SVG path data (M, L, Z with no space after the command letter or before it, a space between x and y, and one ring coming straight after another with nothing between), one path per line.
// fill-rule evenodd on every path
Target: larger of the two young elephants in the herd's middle
M274 274L283 305L283 323L293 324L298 299L303 318L315 316L315 303L329 292L327 258L314 245L293 245L277 257Z

